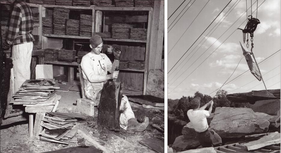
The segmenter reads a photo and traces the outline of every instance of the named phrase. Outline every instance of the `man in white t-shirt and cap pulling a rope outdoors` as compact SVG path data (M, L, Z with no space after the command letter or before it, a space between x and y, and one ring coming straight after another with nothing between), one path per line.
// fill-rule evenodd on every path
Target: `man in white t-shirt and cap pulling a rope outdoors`
M190 101L193 110L187 111L187 116L196 132L197 139L203 148L221 146L221 137L207 123L206 117L210 116L213 107L213 101L209 101L200 107L200 97L194 97ZM210 105L209 110L205 110ZM200 108L199 108L200 107Z

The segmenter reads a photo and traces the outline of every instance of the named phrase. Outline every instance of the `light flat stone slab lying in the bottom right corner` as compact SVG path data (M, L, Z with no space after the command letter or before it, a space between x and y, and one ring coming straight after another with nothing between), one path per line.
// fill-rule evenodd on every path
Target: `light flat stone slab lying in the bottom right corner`
M261 137L258 140L251 141L248 143L243 144L247 147L247 150L255 150L265 146L279 144L280 143L280 133L267 133L265 136Z

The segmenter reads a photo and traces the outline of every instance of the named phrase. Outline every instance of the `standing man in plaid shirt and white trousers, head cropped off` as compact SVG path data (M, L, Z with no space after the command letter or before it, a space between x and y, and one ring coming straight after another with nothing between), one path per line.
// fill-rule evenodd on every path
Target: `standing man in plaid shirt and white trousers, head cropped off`
M14 61L14 91L20 88L26 79L30 79L30 62L34 38L32 11L26 2L22 0L10 1L11 17L8 36L3 43L4 49L12 47ZM13 2L13 3L12 3Z

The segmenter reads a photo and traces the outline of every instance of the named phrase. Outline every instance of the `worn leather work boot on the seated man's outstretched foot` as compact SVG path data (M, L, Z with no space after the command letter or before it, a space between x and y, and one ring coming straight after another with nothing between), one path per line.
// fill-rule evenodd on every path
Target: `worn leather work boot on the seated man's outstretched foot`
M135 132L145 131L149 123L148 117L145 117L142 123L139 123L136 118L131 118L128 121L127 133L134 134Z

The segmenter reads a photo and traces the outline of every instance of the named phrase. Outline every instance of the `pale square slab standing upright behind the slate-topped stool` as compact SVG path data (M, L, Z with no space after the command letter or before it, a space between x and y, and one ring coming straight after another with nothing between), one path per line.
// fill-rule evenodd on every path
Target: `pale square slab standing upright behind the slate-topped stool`
M36 79L46 78L53 79L53 65L52 64L38 64L35 68Z

